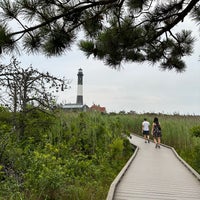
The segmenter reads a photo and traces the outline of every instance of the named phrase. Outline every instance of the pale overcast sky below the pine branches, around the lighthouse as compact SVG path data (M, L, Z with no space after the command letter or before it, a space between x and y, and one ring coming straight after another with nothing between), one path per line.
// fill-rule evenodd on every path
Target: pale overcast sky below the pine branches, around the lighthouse
M194 35L199 36L198 29L192 28ZM72 80L71 89L59 93L58 101L62 103L76 102L77 73L82 68L83 101L88 106L99 104L106 107L107 112L133 110L200 115L199 56L200 45L196 41L193 55L185 57L187 68L183 73L161 71L148 63L126 63L118 71L104 65L103 61L87 59L77 47L60 57L21 55L17 59L22 67L32 64L40 71ZM7 57L1 58L1 63L6 62Z

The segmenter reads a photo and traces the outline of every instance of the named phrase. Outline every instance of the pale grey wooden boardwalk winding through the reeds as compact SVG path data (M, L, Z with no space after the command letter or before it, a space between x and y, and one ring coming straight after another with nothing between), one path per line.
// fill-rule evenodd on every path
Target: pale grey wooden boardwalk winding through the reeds
M134 155L113 181L107 200L200 200L200 175L173 148L132 135Z

